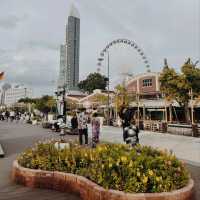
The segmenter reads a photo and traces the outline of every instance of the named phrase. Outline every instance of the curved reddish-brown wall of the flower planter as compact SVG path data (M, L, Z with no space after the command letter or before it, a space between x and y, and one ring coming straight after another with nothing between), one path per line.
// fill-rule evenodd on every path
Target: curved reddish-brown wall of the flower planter
M54 189L62 192L76 193L83 200L191 200L194 182L173 192L130 194L116 190L105 190L90 180L63 172L32 170L13 163L12 179L15 183L32 188Z

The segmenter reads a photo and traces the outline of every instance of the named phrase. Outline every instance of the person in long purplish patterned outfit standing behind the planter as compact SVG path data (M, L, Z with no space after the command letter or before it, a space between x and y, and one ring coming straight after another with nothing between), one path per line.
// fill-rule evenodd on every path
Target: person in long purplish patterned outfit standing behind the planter
M98 113L95 112L92 118L92 147L96 147L96 144L99 143L99 134L100 134L100 119Z

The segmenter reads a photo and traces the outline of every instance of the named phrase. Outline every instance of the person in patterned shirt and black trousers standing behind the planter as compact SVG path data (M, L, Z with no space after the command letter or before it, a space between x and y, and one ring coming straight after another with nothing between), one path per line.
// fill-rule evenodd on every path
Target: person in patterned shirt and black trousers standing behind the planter
M86 116L86 109L80 109L80 113L77 115L78 119L78 134L79 134L79 144L83 144L83 136L85 137L85 144L88 144L88 127L87 121L88 118Z

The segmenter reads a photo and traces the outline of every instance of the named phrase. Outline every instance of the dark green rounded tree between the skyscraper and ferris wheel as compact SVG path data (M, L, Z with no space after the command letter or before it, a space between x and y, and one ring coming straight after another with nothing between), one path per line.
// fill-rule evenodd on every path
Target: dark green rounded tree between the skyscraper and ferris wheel
M81 90L92 93L95 89L105 90L107 78L100 73L91 73L85 80L79 82L78 87Z

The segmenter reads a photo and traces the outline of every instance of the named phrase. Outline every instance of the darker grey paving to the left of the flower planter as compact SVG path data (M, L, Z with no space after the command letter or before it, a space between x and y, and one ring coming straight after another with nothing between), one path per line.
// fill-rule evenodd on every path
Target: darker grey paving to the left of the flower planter
M5 151L5 157L0 158L0 200L80 200L72 194L30 189L11 182L11 167L16 155L38 140L52 137L54 134L40 127L0 122L0 142Z

